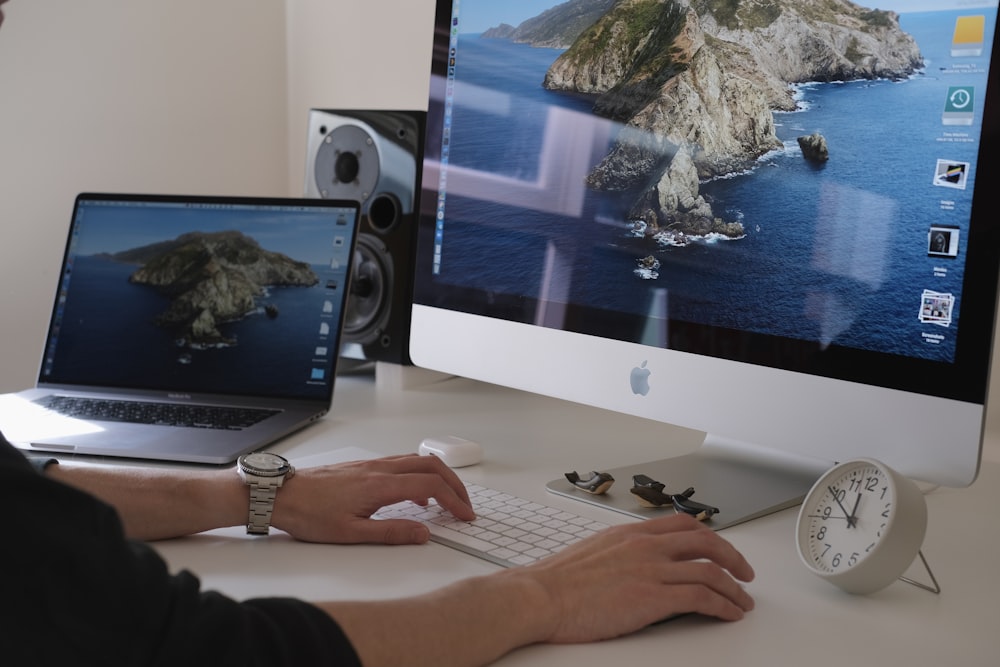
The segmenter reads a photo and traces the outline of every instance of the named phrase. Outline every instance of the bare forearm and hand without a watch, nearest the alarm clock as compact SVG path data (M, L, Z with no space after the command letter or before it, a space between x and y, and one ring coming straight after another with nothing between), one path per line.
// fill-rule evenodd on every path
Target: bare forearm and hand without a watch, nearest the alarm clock
M732 545L677 514L614 526L533 565L417 597L319 606L366 665L486 665L519 646L610 639L677 614L733 621L753 608L740 584L751 579Z

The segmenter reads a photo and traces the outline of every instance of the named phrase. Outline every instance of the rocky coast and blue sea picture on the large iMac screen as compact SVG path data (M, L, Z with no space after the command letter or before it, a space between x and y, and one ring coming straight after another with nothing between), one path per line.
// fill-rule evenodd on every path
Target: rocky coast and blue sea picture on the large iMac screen
M772 3L754 32L691 2L645 51L630 22L681 3L509 4L456 11L438 280L954 358L995 3L839 3L821 28ZM569 6L596 27L555 30ZM760 36L781 21L787 44Z

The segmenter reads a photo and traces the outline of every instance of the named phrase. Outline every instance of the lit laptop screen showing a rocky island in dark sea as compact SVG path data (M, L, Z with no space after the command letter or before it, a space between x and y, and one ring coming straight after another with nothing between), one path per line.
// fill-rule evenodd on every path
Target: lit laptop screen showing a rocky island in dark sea
M327 396L354 230L339 222L81 204L42 380Z

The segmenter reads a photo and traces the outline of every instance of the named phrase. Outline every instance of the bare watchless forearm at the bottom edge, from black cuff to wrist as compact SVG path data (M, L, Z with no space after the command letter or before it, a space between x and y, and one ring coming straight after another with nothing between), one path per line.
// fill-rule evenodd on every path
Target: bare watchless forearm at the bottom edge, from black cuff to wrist
M465 579L403 600L329 602L365 667L472 667L545 641L551 601L517 570Z

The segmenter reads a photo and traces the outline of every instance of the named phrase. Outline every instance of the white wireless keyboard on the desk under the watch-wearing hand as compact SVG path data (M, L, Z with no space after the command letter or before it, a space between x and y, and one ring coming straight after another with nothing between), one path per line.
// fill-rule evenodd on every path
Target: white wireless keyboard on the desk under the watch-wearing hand
M430 529L432 542L503 567L533 563L608 527L495 489L476 484L467 484L466 489L476 510L475 521L456 519L433 501L426 507L396 503L372 518L420 521Z

